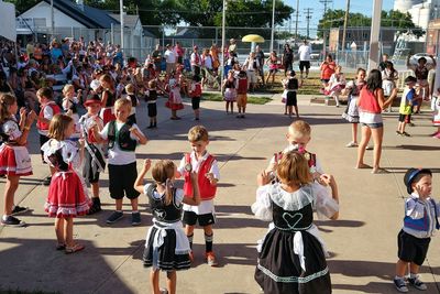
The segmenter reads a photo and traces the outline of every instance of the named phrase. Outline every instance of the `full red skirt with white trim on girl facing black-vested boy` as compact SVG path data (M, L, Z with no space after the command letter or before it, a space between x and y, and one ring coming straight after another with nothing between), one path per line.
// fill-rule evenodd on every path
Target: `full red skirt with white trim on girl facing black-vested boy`
M90 208L79 176L73 172L56 172L52 176L44 210L50 217L84 216Z

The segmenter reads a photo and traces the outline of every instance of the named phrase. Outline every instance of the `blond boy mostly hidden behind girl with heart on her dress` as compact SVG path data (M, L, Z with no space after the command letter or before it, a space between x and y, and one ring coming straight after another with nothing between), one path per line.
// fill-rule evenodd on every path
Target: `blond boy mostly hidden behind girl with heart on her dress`
M310 124L305 122L304 120L297 120L293 122L288 127L288 132L286 134L287 142L289 142L288 146L284 149L282 152L275 153L272 157L270 165L266 168L266 173L274 173L276 171L277 162L282 159L283 154L297 150L305 154L306 159L309 162L310 172L314 175L314 178L320 182L320 175L323 174L322 166L316 154L306 151L307 144L311 140L311 128ZM274 175L275 176L275 175Z

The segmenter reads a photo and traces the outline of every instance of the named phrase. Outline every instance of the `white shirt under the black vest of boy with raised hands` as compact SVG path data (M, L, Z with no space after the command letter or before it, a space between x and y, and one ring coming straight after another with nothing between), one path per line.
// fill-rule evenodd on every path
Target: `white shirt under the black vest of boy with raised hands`
M119 131L122 126L124 123L123 122L116 122L116 129L117 131ZM132 128L136 128L139 132L142 133L141 129L138 127L138 124L133 123ZM109 134L109 123L106 124L106 127L103 127L102 131L99 132L99 134L102 137L103 140L108 139L108 134ZM133 140L139 141L138 137L135 137L133 133L130 133L130 138ZM114 145L112 149L109 149L109 157L108 157L108 162L109 164L113 164L113 165L125 165L125 164L130 164L136 161L136 153L134 151L122 151L119 148L119 144L114 142Z

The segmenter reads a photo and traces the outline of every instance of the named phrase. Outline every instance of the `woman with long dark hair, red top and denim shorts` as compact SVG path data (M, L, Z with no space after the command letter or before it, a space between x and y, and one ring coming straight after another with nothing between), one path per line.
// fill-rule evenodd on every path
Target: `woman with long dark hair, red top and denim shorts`
M361 89L358 98L359 121L362 124L362 139L358 148L356 168L371 168L364 163L365 148L373 137L373 174L387 173L381 168L382 141L384 137L384 122L382 110L393 100L384 100L384 90L382 89L382 75L378 69L372 69L366 79L365 86Z

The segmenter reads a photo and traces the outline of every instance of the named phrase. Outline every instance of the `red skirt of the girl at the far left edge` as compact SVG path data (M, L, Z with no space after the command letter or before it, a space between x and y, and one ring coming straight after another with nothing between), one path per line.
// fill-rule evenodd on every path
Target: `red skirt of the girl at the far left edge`
M20 159L21 164L16 164ZM32 175L31 157L25 146L0 146L0 175L26 176Z

